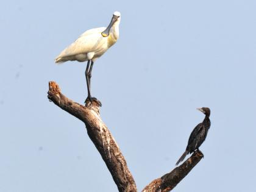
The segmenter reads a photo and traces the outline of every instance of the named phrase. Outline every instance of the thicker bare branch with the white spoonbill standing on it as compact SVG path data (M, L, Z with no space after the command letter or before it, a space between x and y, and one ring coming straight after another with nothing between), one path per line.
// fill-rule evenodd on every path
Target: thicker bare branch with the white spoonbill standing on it
M137 191L135 181L118 144L99 116L98 104L93 102L93 104L89 103L85 107L71 101L60 93L59 85L55 82L49 82L48 99L85 123L87 133L112 174L118 190L123 192Z

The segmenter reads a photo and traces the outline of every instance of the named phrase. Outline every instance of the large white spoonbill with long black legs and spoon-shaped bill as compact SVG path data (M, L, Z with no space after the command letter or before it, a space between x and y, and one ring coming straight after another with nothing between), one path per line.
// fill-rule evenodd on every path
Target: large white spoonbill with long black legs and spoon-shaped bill
M120 16L121 13L114 12L108 27L98 27L85 31L55 59L55 63L63 63L69 60L88 61L85 70L88 96L85 102L88 100L91 102L96 101L101 105L98 99L91 97L91 71L95 60L101 57L118 40Z

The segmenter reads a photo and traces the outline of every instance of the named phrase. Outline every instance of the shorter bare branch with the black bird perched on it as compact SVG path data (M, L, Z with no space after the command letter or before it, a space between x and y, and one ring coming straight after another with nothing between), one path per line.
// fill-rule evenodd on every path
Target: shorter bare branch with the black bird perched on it
M142 192L167 192L171 191L176 185L187 176L188 172L196 166L204 157L200 151L196 151L182 165L173 169L161 178L153 180L147 185Z

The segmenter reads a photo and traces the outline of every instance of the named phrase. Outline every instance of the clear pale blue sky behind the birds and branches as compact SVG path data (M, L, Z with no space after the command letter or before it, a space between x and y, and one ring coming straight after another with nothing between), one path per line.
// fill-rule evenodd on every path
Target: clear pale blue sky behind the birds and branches
M138 190L175 168L210 107L204 159L174 191L255 191L256 1L2 1L0 191L117 191L85 125L47 99L81 104L86 63L54 58L121 12L92 94Z

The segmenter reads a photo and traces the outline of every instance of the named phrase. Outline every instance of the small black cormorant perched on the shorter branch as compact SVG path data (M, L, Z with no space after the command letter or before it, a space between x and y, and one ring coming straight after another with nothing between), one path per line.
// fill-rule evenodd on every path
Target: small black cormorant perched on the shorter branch
M194 130L192 131L192 133L190 134L190 138L188 139L188 145L187 145L186 151L179 158L176 165L182 162L187 154L191 154L194 151L199 151L199 147L204 142L207 136L207 132L210 129L210 126L211 126L211 121L209 119L210 108L202 107L202 108L197 108L197 110L205 114L204 121L202 123L199 123L196 127L194 127Z

